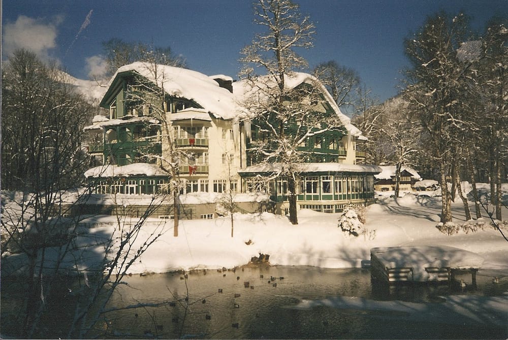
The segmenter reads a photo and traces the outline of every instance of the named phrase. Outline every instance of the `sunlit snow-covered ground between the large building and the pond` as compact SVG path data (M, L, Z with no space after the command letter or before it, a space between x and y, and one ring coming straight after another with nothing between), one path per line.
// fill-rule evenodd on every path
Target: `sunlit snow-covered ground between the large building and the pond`
M454 221L464 222L464 209L458 201L453 203ZM129 272L232 268L248 263L260 253L269 254L272 265L360 267L370 260L370 249L374 247L451 246L479 254L484 258L482 269L506 269L508 276L508 242L499 231L487 226L476 232L443 234L436 228L439 213L440 197L411 194L397 199L380 197L378 203L366 208L364 227L368 233L358 237L346 235L338 227L340 214L310 210L298 212L298 225L292 225L285 216L270 213L235 214L233 237L230 217L180 220L178 237L173 236L173 220L149 219L138 237L139 242L161 224L165 224L166 232ZM508 211L503 216L507 218ZM482 220L488 224L487 218ZM117 228L114 216L94 216L82 223L87 226L82 229L89 234L79 235L75 241L83 246L89 245L90 234L104 237ZM508 230L504 229L504 233L508 234ZM93 261L100 259L104 252L101 246L87 248L79 255L81 269L93 267ZM74 259L70 259L70 267L71 262Z

